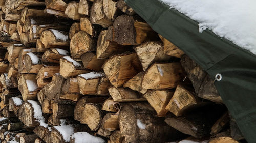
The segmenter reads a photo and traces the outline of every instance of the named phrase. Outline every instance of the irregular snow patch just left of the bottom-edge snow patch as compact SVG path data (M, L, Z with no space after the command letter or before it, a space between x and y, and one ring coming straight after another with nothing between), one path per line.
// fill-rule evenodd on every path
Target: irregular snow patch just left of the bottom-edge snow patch
M66 142L70 142L70 135L74 133L72 125L65 125L65 121L62 120L59 126L53 126L53 128L59 131Z

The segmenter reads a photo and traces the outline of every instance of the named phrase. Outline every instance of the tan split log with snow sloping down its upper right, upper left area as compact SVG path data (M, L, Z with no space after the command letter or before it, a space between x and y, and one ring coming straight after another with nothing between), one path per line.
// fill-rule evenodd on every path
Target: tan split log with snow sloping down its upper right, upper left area
M42 32L40 40L44 44L45 48L53 48L58 46L69 46L69 33L59 30L46 30Z

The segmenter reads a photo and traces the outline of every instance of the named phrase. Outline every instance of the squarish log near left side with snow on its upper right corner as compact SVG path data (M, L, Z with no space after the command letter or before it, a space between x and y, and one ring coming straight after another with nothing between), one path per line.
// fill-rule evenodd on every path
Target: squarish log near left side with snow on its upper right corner
M42 52L29 52L24 55L24 65L28 73L38 73L44 64L41 61Z

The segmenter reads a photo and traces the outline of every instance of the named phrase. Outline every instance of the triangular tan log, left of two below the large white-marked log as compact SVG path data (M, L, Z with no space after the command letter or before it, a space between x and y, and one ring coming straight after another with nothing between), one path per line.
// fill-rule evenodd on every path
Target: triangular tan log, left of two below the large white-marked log
M173 97L173 91L167 90L150 90L144 94L148 103L156 110L157 115L165 116L168 110L165 109L170 99Z

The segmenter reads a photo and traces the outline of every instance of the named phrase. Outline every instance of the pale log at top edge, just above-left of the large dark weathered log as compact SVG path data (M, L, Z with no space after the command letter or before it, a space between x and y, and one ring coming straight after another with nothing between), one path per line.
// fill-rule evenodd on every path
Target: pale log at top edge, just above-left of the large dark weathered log
M90 21L93 24L101 25L104 28L109 27L113 22L108 19L103 11L103 0L96 0L91 7Z

